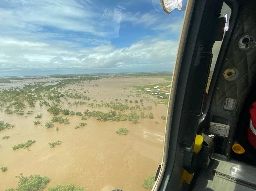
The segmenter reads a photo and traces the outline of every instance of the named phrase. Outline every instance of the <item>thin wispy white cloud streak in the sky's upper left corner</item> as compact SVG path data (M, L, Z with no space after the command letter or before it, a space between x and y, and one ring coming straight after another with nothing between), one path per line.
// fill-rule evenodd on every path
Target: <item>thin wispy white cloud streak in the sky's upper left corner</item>
M96 34L99 14L87 3L81 5L75 0L27 0L25 4L9 2L9 8L0 9L1 25L29 31L42 31L43 27L62 30L83 31ZM86 6L86 9L85 7Z

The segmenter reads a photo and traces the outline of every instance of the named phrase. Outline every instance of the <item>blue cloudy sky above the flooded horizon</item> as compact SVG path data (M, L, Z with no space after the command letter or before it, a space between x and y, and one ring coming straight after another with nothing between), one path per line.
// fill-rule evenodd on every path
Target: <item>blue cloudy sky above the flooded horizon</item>
M170 71L183 16L152 0L1 0L0 76Z

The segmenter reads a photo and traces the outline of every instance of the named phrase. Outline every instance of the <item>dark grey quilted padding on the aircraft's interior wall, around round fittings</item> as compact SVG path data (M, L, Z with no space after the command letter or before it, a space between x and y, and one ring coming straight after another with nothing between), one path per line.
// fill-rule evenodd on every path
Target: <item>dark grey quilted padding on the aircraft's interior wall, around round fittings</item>
M238 47L238 41L244 35L250 35L256 40L256 14L252 11L255 9L255 4L247 3L238 16L239 20L236 22L230 45L225 54L210 106L212 115L231 121L238 118L256 77L256 47L248 50L241 50ZM227 81L224 79L223 72L227 68L238 70L239 77L237 80ZM238 100L234 111L223 110L226 97Z

